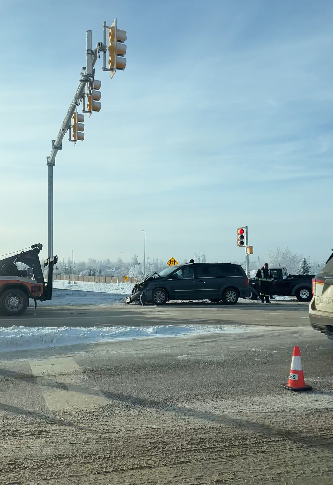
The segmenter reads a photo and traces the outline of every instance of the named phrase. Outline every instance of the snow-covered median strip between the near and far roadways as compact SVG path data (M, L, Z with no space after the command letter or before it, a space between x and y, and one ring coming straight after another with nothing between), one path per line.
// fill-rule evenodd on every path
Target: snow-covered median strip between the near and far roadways
M240 333L244 326L160 325L151 327L25 327L0 328L0 352L39 349L77 343L93 343L149 337L185 337L217 332Z

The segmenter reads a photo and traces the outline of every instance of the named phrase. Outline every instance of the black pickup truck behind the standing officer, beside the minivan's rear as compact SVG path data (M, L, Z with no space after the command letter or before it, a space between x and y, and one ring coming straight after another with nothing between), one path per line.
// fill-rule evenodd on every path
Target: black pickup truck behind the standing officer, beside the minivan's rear
M311 282L314 275L288 275L286 268L270 268L274 278L271 283L270 292L278 296L296 296L300 302L309 302L312 298ZM250 279L252 300L256 300L260 294L259 282Z

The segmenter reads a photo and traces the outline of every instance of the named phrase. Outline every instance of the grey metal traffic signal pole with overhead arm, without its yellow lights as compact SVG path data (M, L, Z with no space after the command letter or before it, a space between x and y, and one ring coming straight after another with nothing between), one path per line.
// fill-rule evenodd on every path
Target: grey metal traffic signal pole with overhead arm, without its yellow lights
M91 81L93 79L93 68L97 58L99 57L99 52L106 50L106 46L102 42L98 42L95 49L92 49L92 31L86 31L86 67L82 68L81 79L79 82L79 87L75 93L75 96L67 110L66 116L64 117L63 124L61 125L60 131L58 133L57 139L52 140L52 150L47 157L48 165L48 257L53 257L53 167L55 165L55 158L58 150L62 149L62 141L66 132L70 128L72 116L81 100L84 96L84 88L89 82L91 86ZM92 89L92 88L91 88Z

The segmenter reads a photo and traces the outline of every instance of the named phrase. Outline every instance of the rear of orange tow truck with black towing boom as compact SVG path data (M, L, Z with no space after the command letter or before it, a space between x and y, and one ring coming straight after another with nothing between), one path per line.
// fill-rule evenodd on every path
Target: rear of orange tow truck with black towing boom
M53 266L58 257L48 258L44 266L48 267L48 282L44 280L39 253L42 244L33 244L28 251L21 251L0 260L0 312L4 315L21 315L29 306L29 299L52 299ZM23 263L17 264L17 263ZM24 266L25 269L20 269Z

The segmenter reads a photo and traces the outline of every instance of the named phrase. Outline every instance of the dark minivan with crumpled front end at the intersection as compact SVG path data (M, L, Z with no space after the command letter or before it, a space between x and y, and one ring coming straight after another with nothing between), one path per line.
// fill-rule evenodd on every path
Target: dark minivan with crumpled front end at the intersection
M145 276L137 283L126 303L164 305L168 300L210 300L234 305L251 295L249 280L239 264L190 263L171 266Z

